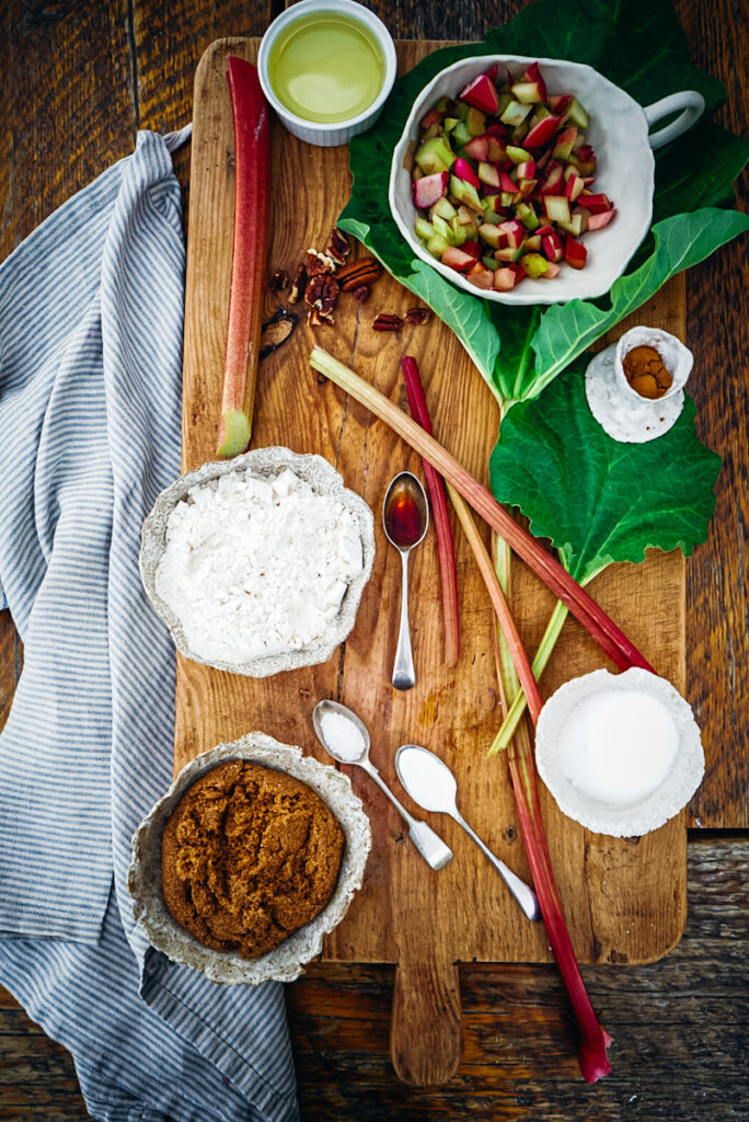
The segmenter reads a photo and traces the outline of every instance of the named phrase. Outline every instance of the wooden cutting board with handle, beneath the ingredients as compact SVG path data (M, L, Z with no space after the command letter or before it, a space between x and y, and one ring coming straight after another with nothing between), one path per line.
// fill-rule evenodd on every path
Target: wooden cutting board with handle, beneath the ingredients
M233 131L224 57L251 62L257 40L224 39L203 56L195 77L189 182L184 355L183 467L215 458L216 423L229 300L233 218ZM400 43L401 70L441 44ZM325 249L349 190L345 148L314 148L277 122L271 132L272 213L269 274L293 272L308 247ZM266 319L283 301L267 296ZM498 410L456 339L432 318L381 334L378 312L401 314L417 302L390 277L359 305L342 294L334 327L313 329L305 310L290 339L260 367L253 448L285 444L317 452L376 513L377 559L348 643L321 666L255 681L178 659L175 769L222 741L261 729L329 763L317 745L312 710L321 698L354 709L372 735L372 761L410 809L394 757L406 742L423 744L455 771L460 806L510 867L528 877L505 758L487 758L501 721L492 651L492 613L472 557L456 530L462 654L442 664L440 578L434 536L412 557L412 624L418 681L407 693L390 686L398 624L400 563L387 545L379 512L390 478L420 463L389 429L331 384L307 359L317 342L406 407L399 377L414 355L427 383L435 434L481 481L497 438ZM684 335L684 288L667 287L636 322ZM629 324L627 324L629 325ZM623 327L621 328L623 330ZM488 541L488 534L487 534ZM654 554L642 565L617 565L592 586L657 671L684 688L684 561ZM514 607L534 651L552 599L518 562ZM604 664L575 620L568 620L542 683L548 696L567 678ZM357 769L373 833L363 888L329 937L324 958L396 963L391 1051L407 1080L435 1084L455 1070L461 1050L457 964L540 963L551 958L543 925L530 925L491 865L452 820L431 816L453 848L453 863L431 872L407 839L404 822ZM593 835L562 816L542 787L552 859L570 930L582 963L641 964L665 955L686 918L686 830L683 817L641 839Z

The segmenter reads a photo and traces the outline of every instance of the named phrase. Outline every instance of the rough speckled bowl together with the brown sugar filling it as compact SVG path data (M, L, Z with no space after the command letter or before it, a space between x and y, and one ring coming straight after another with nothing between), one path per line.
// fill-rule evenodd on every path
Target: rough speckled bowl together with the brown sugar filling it
M292 982L343 919L370 845L348 776L249 733L192 760L138 827L133 914L214 982Z

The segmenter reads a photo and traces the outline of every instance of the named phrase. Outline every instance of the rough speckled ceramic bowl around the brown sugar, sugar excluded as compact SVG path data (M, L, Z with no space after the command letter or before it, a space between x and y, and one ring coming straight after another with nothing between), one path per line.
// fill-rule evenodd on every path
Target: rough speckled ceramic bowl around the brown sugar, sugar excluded
M294 775L311 787L341 824L345 846L333 895L309 923L305 923L274 950L260 958L241 958L229 951L212 950L177 923L164 902L161 892L161 836L166 822L183 794L211 769L229 760L249 760ZM132 837L132 861L128 889L132 912L157 950L176 963L200 971L212 982L246 983L293 982L303 966L322 950L323 938L336 927L361 888L371 847L372 834L361 799L354 794L348 775L302 748L281 744L263 733L248 733L239 741L220 744L191 760Z

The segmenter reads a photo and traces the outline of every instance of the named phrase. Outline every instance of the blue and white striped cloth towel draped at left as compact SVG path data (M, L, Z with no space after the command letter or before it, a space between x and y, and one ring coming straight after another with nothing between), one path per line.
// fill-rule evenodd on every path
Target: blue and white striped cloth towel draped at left
M138 577L179 473L175 138L0 266L0 607L25 644L0 735L0 982L72 1052L96 1119L297 1118L280 985L216 986L135 927L133 828L172 776L174 650Z

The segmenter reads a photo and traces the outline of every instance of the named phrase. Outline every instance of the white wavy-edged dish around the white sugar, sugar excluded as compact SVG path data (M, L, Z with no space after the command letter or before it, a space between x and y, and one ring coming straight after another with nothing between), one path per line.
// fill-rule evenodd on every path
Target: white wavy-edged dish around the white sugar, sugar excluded
M678 734L678 748L666 778L655 791L625 807L583 793L567 779L560 761L562 730L574 720L575 708L592 695L612 690L647 693L660 702ZM692 707L665 678L636 666L620 674L595 670L561 686L538 718L536 764L557 806L570 818L597 834L636 837L658 829L687 804L702 782L705 760Z

